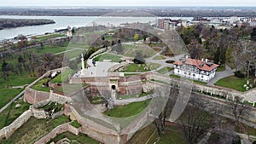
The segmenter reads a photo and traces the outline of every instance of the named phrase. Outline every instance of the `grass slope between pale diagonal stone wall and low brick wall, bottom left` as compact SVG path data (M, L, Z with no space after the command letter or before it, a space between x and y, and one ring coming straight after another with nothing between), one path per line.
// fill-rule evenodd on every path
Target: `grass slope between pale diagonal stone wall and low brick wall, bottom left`
M1 144L24 144L34 143L39 138L48 134L51 130L61 124L69 122L66 116L55 119L30 118L26 124L16 130L7 140L0 141Z

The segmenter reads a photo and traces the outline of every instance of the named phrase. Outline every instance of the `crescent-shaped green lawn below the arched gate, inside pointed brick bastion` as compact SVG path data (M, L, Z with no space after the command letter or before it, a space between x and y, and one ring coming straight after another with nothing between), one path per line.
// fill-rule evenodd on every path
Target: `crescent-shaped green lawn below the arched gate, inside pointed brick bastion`
M147 101L132 102L125 106L113 107L113 109L105 111L104 114L115 118L131 117L139 112L142 112L143 109L148 107L150 101L151 100L149 99Z

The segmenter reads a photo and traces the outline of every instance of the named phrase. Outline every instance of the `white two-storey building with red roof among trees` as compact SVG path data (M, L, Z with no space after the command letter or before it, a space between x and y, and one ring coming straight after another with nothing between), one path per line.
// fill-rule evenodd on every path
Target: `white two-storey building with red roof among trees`
M175 61L173 65L175 75L203 82L208 82L214 78L218 67L217 64L208 62L207 59L195 60L190 58Z

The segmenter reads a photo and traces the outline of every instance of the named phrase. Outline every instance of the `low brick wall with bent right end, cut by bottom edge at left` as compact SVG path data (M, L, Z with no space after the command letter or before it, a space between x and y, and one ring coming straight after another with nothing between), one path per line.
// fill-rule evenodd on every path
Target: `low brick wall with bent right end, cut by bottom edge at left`
M57 136L58 134L61 134L66 131L69 131L74 135L79 135L79 129L73 127L72 125L70 125L70 123L61 124L57 126L54 130L51 130L47 135L44 135L44 137L36 141L34 144L47 143L48 141L50 141L50 139L55 138L55 136Z

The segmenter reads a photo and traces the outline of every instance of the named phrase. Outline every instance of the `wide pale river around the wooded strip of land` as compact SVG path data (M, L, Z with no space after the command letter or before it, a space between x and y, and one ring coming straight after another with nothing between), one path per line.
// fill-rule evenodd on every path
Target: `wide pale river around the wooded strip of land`
M55 24L41 26L24 26L0 30L0 41L7 38L13 38L19 34L23 35L38 35L45 32L54 32L55 28L62 27L79 27L91 26L92 21L98 25L119 26L123 23L131 22L149 22L156 20L156 17L97 17L97 16L20 16L20 15L0 15L0 18L6 19L49 19L55 20ZM179 19L179 18L171 18ZM192 20L192 18L183 18Z

